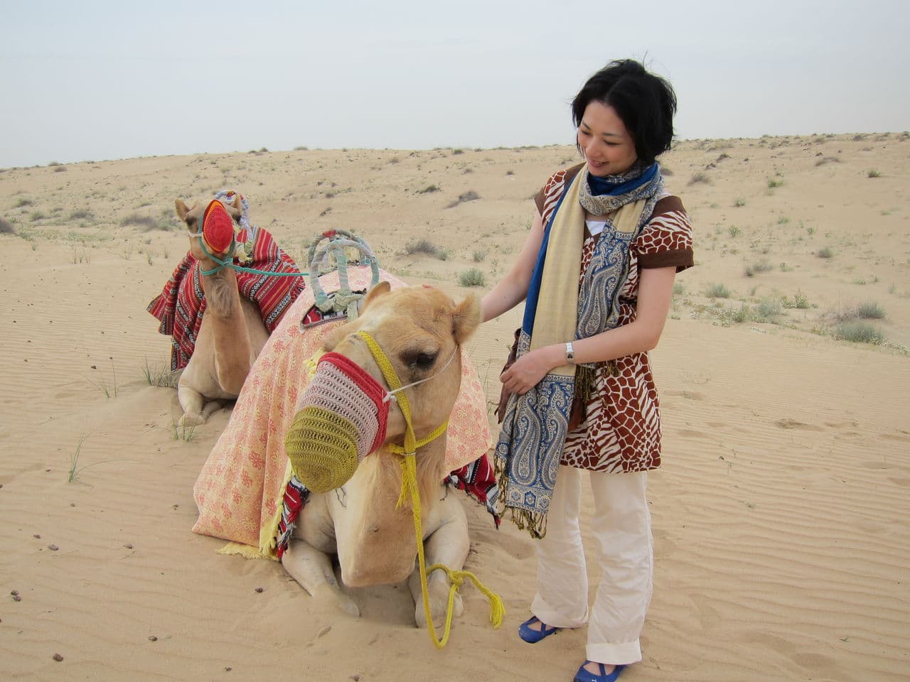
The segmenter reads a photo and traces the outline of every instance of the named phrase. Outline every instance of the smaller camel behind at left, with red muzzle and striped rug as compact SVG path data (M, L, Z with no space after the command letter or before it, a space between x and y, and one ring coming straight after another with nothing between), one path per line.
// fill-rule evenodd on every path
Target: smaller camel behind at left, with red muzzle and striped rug
M243 196L222 191L216 201L190 208L176 199L174 206L187 226L189 250L148 311L161 321L159 331L171 336L171 370L183 369L179 423L196 426L239 395L269 334L305 284L268 230L249 224ZM203 216L221 219L217 239L207 239L206 248Z

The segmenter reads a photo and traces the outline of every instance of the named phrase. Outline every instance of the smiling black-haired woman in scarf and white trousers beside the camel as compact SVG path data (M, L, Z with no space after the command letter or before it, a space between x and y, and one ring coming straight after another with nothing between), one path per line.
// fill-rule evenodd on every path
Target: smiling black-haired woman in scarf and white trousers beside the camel
M517 359L501 375L509 398L496 447L501 505L539 538L533 616L519 635L536 643L588 623L575 682L612 682L642 659L653 567L646 472L661 452L648 351L675 274L693 265L692 231L655 161L672 142L672 86L636 61L613 61L571 109L585 163L553 174L535 197L531 234L482 314L525 301ZM591 609L583 470L602 568Z

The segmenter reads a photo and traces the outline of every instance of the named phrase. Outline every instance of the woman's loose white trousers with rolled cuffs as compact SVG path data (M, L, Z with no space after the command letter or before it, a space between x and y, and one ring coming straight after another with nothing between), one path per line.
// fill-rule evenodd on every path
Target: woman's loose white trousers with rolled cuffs
M581 545L581 479L594 497L591 532L601 584L589 611L588 572ZM537 595L531 613L556 627L588 623L588 660L630 664L642 660L639 637L653 587L651 512L647 473L604 474L560 466L547 534L537 541Z

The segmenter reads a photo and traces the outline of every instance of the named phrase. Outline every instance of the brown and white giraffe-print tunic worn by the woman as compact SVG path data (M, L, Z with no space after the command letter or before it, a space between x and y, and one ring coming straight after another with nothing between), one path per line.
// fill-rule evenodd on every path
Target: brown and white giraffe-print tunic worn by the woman
M554 174L535 197L544 225L563 188L580 170L578 165ZM598 238L587 235L584 240L581 277L591 263ZM630 247L629 275L620 289L620 326L635 319L640 271L670 266L675 266L677 272L693 266L692 226L682 201L676 196L663 196ZM612 473L660 466L660 400L648 353L620 357L615 366L615 375L605 366L597 366L585 419L569 432L561 464Z

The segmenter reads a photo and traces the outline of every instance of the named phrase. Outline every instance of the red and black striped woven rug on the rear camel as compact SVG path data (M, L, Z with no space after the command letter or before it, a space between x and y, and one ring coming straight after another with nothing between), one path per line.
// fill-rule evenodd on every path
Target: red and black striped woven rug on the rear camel
M294 259L288 256L268 230L242 227L236 237L239 244L252 243L252 258L245 267L266 273L299 273ZM235 260L235 262L237 262ZM171 337L171 371L187 366L196 347L202 316L206 312L206 297L200 281L201 267L196 258L187 253L174 274L167 280L164 290L152 299L147 310L161 322L158 331ZM268 333L275 331L281 317L306 288L305 278L270 276L238 271L240 296L257 304L262 322Z

